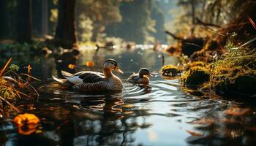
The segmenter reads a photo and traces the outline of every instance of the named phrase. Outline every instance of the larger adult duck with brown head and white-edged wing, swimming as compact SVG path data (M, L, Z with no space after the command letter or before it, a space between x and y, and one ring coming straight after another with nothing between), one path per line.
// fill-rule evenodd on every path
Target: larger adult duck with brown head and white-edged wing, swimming
M107 59L102 67L102 72L82 71L75 74L61 71L64 79L53 76L53 80L60 85L85 92L122 91L123 83L112 71L124 74L114 59Z

